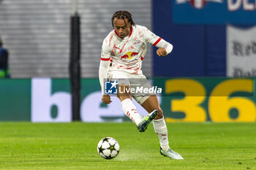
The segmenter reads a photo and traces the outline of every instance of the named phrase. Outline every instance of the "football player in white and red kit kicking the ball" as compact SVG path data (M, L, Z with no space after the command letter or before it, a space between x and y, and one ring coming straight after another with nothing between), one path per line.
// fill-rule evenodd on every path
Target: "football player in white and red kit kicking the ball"
M146 54L146 44L150 43L158 47L157 55L164 57L173 50L173 45L152 33L145 26L136 25L132 15L127 11L117 11L112 18L113 31L105 37L102 44L101 61L99 64L99 82L102 88L102 101L110 104L112 101L105 94L104 80L117 80L118 90L129 89L130 85L137 84L148 88L151 85L141 71L141 64ZM124 93L125 91L125 93ZM121 107L136 125L140 132L153 122L154 131L160 142L160 153L172 159L183 159L181 155L169 147L167 139L167 127L162 109L155 93L138 94L129 90L118 91ZM141 117L132 97L149 113Z

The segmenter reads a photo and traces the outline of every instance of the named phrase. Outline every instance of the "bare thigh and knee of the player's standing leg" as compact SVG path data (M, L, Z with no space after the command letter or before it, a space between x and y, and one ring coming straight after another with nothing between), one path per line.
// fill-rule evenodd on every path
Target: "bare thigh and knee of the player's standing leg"
M160 107L157 95L149 96L146 101L141 104L141 106L146 109L148 113L153 112L155 109L158 110L158 115L155 119L161 119L164 115Z

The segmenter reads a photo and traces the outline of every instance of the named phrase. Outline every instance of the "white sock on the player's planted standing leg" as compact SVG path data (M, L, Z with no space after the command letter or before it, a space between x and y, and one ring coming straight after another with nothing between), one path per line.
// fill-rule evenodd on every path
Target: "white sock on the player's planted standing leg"
M162 117L162 119L153 120L153 126L154 131L157 133L159 138L160 146L162 147L162 150L168 150L169 142L168 142L168 135L167 135L167 127L165 124L165 119Z

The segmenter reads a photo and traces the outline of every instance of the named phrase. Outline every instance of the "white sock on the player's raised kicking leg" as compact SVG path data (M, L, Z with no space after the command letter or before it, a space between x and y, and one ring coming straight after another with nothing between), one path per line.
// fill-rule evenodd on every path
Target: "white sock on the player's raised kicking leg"
M124 111L124 114L127 115L136 125L140 123L141 116L138 114L135 105L132 103L132 100L127 98L124 101L121 101L121 107Z

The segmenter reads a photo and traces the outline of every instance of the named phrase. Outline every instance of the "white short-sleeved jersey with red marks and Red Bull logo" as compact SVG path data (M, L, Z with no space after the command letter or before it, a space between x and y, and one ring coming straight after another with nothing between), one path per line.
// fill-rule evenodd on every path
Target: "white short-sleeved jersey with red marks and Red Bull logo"
M146 54L146 44L157 45L161 38L145 26L132 26L129 36L120 38L115 30L104 39L101 60L112 62L110 71L141 74L141 63Z

